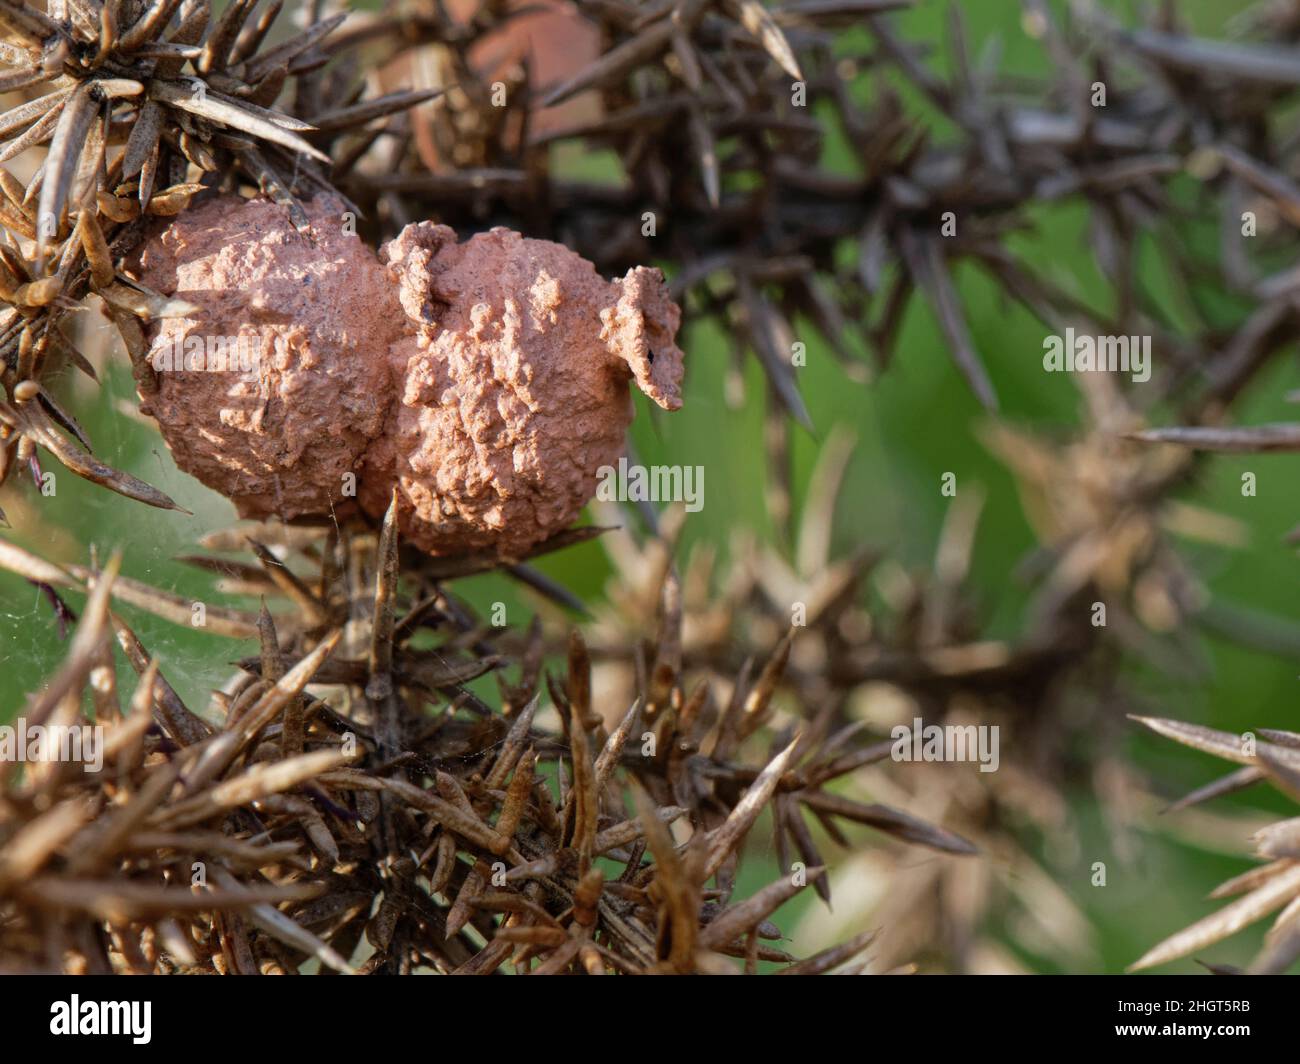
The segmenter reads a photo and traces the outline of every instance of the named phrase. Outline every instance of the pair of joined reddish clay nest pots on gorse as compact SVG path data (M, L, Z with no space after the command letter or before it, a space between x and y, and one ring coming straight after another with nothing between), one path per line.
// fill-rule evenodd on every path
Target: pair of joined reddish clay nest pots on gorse
M434 554L525 554L578 515L623 451L628 382L681 406L680 311L656 269L604 281L568 248L506 229L464 243L407 226L381 259L312 204L222 198L140 256L142 281L204 308L176 333L255 329L280 350L255 380L161 373L146 412L181 468L240 514L338 512L359 470L373 515Z

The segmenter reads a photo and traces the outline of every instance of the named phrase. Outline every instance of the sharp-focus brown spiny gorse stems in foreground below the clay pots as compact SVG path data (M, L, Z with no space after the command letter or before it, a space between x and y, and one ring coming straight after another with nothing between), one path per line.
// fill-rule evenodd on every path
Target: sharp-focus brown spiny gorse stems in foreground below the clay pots
M100 773L36 766L6 780L10 968L269 973L315 959L595 974L722 972L737 957L751 972L820 972L853 963L871 934L802 961L770 944L781 933L768 916L785 900L807 886L829 896L805 817L837 838L836 822L861 823L974 852L906 812L827 790L888 744L863 743L859 727L836 726L836 704L818 710L790 687L790 636L741 669L720 706L720 685L707 671L692 679L681 658L671 565L659 570L658 637L625 662L636 695L611 708L595 700L577 632L563 674L543 667L536 624L517 657L498 653L500 632L445 585L474 559L403 557L393 511L377 536L268 525L207 545L251 546L257 565L195 561L300 607L220 613L228 635L255 631L261 652L216 697L216 726L110 609L120 598L166 615L164 596L122 583L116 561L72 572L0 552L48 588L90 592L68 663L25 719L86 725L88 687L105 730ZM112 679L114 633L142 676L129 713ZM489 671L502 713L467 685ZM737 899L741 847L766 813L780 871Z

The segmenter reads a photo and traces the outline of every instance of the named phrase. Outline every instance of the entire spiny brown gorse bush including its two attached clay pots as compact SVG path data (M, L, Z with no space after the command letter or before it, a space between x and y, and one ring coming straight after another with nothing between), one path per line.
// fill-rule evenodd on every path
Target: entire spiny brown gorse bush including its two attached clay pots
M1041 840L1070 834L1067 780L1114 818L1141 786L1134 669L1176 674L1200 627L1284 641L1226 624L1182 540L1235 536L1188 501L1204 451L1300 450L1300 425L1231 424L1297 325L1300 9L1219 40L1173 3L1138 25L1024 0L1052 72L1031 78L976 56L958 5L932 40L907 0L335 7L287 27L278 3L0 0L0 484L23 539L0 566L66 633L3 736L0 966L984 970L1006 943L1084 964ZM1020 252L1062 206L1102 300ZM1079 424L998 415L970 276L1041 325L1035 372L1078 388ZM854 386L906 372L914 306L1037 540L997 624L957 473L931 565L837 549L854 444L814 424L801 371L816 349ZM686 545L711 455L624 446L629 382L689 410L710 329L729 401L760 411L771 544ZM35 548L43 463L182 509L66 394L118 347L181 468L248 518L185 559L212 596L109 540ZM537 559L592 541L612 576L582 601ZM473 604L484 574L533 614ZM208 706L127 610L235 640ZM1295 796L1291 732L1244 751L1148 723L1244 765L1182 808ZM1288 823L1225 884L1240 901L1140 964L1280 909L1251 970L1292 965ZM842 942L797 957L777 911L829 903L836 861L883 900L853 892Z

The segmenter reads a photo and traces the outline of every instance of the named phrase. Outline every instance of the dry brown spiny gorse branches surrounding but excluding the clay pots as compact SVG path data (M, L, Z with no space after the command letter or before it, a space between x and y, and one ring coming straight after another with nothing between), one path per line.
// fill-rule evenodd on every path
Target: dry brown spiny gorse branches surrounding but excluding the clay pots
M95 596L86 639L116 627L146 674L136 701L152 714L121 718L138 736L122 732L130 756L116 782L10 779L18 790L6 795L0 832L6 862L20 861L25 874L0 877L13 914L0 926L21 943L14 956L58 968L73 953L88 968L131 970L294 970L311 956L374 970L494 970L511 959L530 970L712 970L729 952L751 968L781 956L759 938L796 888L796 853L806 882L828 891L810 821L836 839L848 840L848 821L940 851L967 848L950 831L823 790L831 780L861 786L887 757L857 714L871 684L904 692L927 719L1018 730L1010 770L987 786L953 771L898 773L902 799L941 810L945 825L998 860L976 871L974 861L920 866L890 908L901 931L887 963L935 951L972 965L980 929L1008 899L1037 913L1046 933L1066 929L1067 950L1086 939L1078 913L1052 894L1023 832L1008 823L1023 816L1035 829L1069 831L1061 778L1080 735L1095 744L1093 778L1119 780L1102 787L1108 813L1122 808L1130 774L1113 749L1117 708L1134 706L1114 683L1121 656L1187 669L1187 626L1264 646L1287 640L1268 619L1231 623L1232 609L1210 598L1174 536L1227 542L1234 528L1173 498L1201 459L1150 442L1296 449L1294 427L1226 421L1296 326L1300 137L1291 105L1300 17L1294 5L1261 5L1234 27L1240 39L1217 42L1190 35L1176 3L1153 5L1144 25L1126 29L1095 4L1071 4L1057 20L1043 0L1024 0L1026 30L1053 66L1050 78L1024 79L970 53L956 5L950 73L940 73L932 43L898 30L892 12L902 7L577 0L595 55L541 85L528 57L504 70L474 59L510 30L517 12L508 4L482 4L472 18L442 3L399 4L344 25L312 4L303 33L266 47L278 5L255 18L254 4L233 3L209 18L199 0L69 0L48 13L0 0L0 59L12 66L3 87L39 92L0 117L0 156L47 146L30 183L0 170L0 224L10 234L0 246L9 397L0 403L0 480L31 466L39 446L78 475L174 506L91 457L42 382L60 360L92 372L58 323L96 291L140 367L140 320L190 310L118 273L147 216L182 211L204 187L255 185L296 209L296 195L333 185L374 241L420 219L465 232L503 224L568 245L604 276L664 263L688 315L723 324L734 380L750 352L762 364L770 499L785 542L780 552L742 545L722 575L707 550L679 571L680 529L649 515L644 536L603 537L619 580L610 609L571 643L560 623L494 630L448 589L500 570L554 613L581 607L526 559L430 559L400 550L391 529L360 525L265 527L252 545L244 533L214 533L213 550L251 555L202 555L196 565L234 593L292 610L273 622L235 607L209 611L214 632L256 633L263 653L240 663L238 682L203 717L148 672L150 656L125 624L104 620L113 617L109 592L173 618L186 601L113 576L112 566L56 567L0 544L0 562L46 588L61 618L70 610L57 589ZM863 33L844 36L849 25ZM361 101L363 69L374 72L378 100ZM862 85L870 104L859 103ZM1093 103L1098 85L1104 108ZM592 105L554 118L551 105L580 99ZM849 172L827 163L835 138L846 143ZM555 164L564 151L592 148L618 161L616 181ZM1087 211L1089 250L1113 297L1105 307L1039 276L1011 250L1044 207L1058 204ZM1247 212L1258 221L1253 242L1243 238ZM1197 226L1205 219L1208 234ZM1138 263L1150 247L1187 294L1178 313L1141 284ZM996 408L958 269L983 273L1053 332L1150 336L1154 352L1140 390L1075 377L1078 431L1046 438L1001 421L987 429L1039 539L1019 574L1031 607L1010 639L987 636L966 585L979 523L970 499L952 509L928 574L866 549L833 557L833 490L818 494L802 522L790 505L789 421L811 421L789 359L801 337L823 338L853 377L868 366L888 371L919 295L956 372ZM147 373L138 380L148 386ZM1149 428L1169 420L1186 428ZM842 472L850 449L832 438L824 468ZM542 549L598 533L573 529ZM881 610L863 605L872 579ZM1088 622L1097 601L1109 610L1104 630ZM790 631L794 602L810 619ZM75 719L72 692L88 682L94 693L96 676L107 683L86 665L90 653L74 653L49 688L56 693L38 697L40 714ZM563 674L546 667L556 659L567 661ZM589 662L619 678L624 702L598 704ZM503 680L500 714L465 687L511 669L519 675ZM112 704L100 697L107 726ZM430 705L442 713L429 717ZM100 712L96 702L96 721ZM556 722L543 728L538 718L550 712ZM645 732L653 754L640 753ZM302 761L342 757L344 748L346 764ZM1240 778L1262 771L1273 773L1249 764ZM202 844L131 848L136 832L157 827L153 818L170 825L176 806L190 810L182 819L199 816L187 823L203 826ZM81 832L96 827L87 808L133 812L98 843L99 865L70 866L87 849ZM733 901L738 843L762 809L772 813L780 878ZM238 860L222 839L243 847ZM142 882L166 887L172 899L195 861L213 869L204 890L220 904L105 916L88 908L94 891L75 894L94 871L127 892ZM31 877L64 887L16 894ZM1290 882L1268 873L1260 887L1280 891L1286 904L1278 884ZM317 896L230 894L289 888ZM939 912L936 899L957 888L967 903ZM373 953L359 961L363 935ZM846 950L803 969L852 960L866 937L854 929ZM1294 942L1291 931L1284 938Z

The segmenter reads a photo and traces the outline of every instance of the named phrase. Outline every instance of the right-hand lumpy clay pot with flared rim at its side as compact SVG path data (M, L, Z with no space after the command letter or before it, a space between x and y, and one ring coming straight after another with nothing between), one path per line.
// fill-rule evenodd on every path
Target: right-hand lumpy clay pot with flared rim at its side
M559 532L623 451L628 380L681 406L680 321L656 269L604 281L567 247L507 229L465 243L408 225L381 250L412 325L389 352L396 406L361 501L432 553L521 554Z

